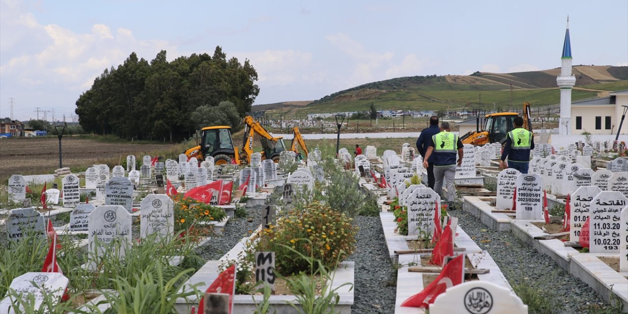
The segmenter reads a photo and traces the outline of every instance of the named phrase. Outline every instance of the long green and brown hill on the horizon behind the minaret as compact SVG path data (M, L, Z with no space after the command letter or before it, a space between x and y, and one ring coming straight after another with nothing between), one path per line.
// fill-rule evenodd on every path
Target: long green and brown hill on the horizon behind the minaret
M271 112L303 114L364 111L370 104L384 110L493 109L494 106L506 109L511 101L514 106L524 101L534 107L546 106L560 102L556 86L559 73L560 68L553 68L516 73L399 77L340 90L305 107L287 107L281 105L283 103L263 106L269 106L264 110ZM573 74L576 77L573 100L628 89L628 67L577 65L573 67Z

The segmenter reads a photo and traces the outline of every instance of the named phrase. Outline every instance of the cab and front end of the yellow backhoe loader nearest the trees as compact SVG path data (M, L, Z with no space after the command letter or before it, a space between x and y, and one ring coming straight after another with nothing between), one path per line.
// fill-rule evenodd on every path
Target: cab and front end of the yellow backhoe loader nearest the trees
M236 149L231 139L230 126L208 126L201 129L201 142L199 146L185 151L188 158L197 157L203 160L207 156L214 157L215 165L224 165L231 162L236 156Z

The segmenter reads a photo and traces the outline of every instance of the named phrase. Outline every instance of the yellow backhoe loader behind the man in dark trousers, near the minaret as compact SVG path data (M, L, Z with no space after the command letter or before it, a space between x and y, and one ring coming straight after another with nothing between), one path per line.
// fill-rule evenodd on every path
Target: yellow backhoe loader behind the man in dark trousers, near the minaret
M484 123L480 129L480 118L477 118L475 131L469 131L460 136L463 144L473 144L482 146L489 143L504 144L506 134L514 129L514 118L519 116L516 112L499 112L484 116ZM530 104L523 103L523 127L532 132L532 121L530 120ZM481 130L481 131L480 131Z

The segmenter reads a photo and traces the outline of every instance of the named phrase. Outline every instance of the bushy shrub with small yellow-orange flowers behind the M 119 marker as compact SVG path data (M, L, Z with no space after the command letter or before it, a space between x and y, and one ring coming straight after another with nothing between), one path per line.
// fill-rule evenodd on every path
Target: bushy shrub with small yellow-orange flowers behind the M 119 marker
M351 222L347 215L313 202L295 208L279 219L276 226L263 230L254 251L274 251L276 270L283 275L310 269L310 263L300 258L300 254L320 259L327 268L335 268L354 251L357 227Z

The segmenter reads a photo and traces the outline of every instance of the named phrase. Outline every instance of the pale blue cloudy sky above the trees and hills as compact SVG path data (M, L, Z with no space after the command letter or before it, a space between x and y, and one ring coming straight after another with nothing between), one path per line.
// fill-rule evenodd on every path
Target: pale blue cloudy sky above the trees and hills
M250 60L255 104L411 75L628 65L628 1L0 0L0 117L77 121L75 102L133 52ZM39 110L40 112L36 112ZM45 113L44 113L45 112Z

